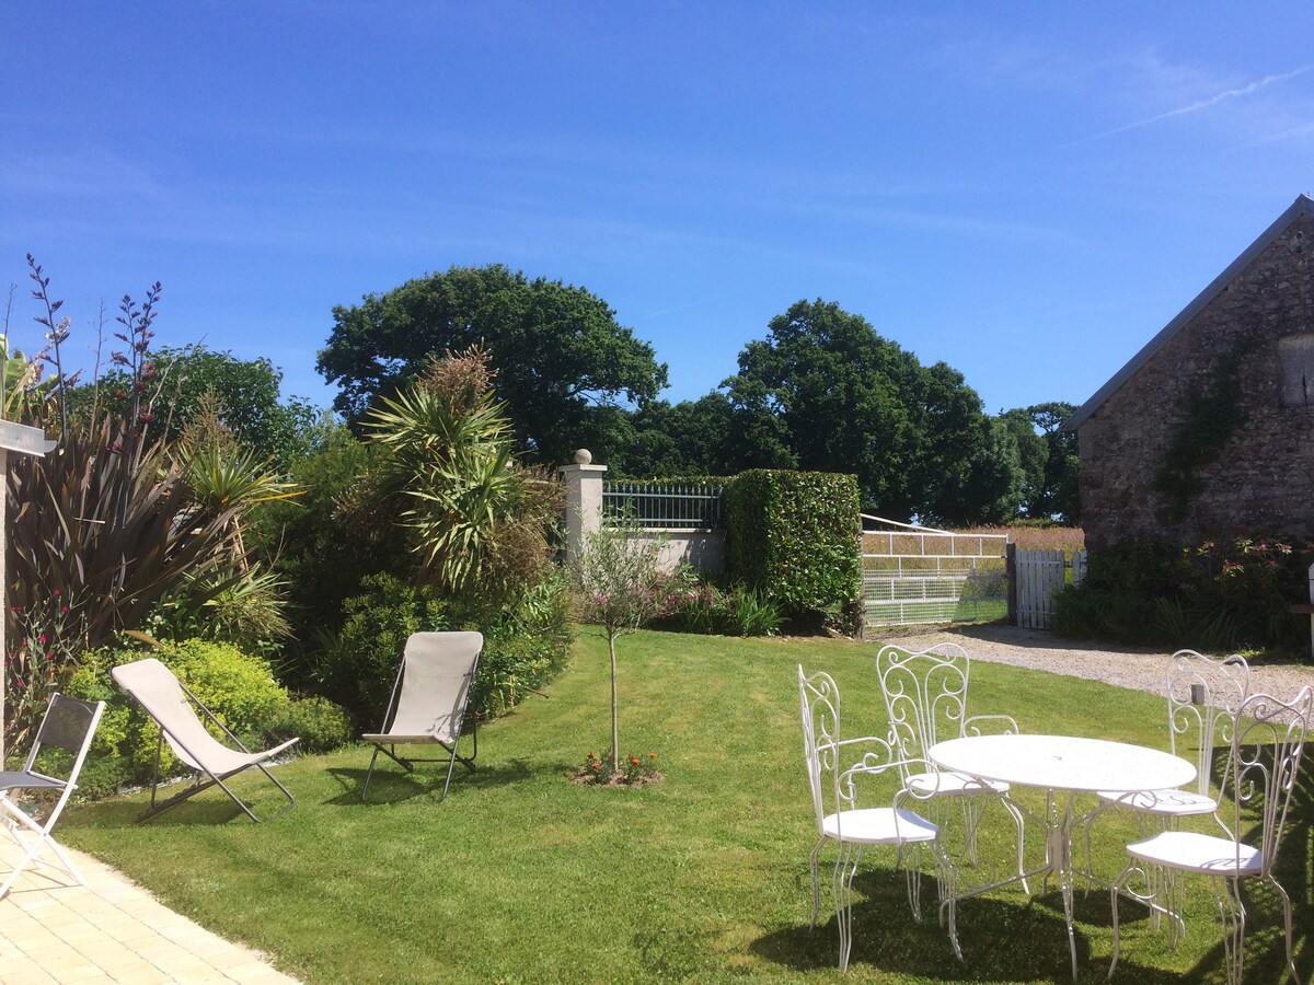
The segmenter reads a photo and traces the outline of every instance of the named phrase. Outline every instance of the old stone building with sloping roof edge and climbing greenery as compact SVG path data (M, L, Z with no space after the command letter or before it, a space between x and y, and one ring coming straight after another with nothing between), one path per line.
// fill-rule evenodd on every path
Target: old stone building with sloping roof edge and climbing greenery
M1314 537L1311 256L1302 194L1064 422L1089 548Z

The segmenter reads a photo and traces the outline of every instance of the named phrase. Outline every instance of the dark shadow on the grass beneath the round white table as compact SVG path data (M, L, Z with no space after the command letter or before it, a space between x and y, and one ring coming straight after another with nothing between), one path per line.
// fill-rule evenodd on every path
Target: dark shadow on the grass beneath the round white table
M804 921L767 934L750 944L754 953L799 972L837 967L840 935L823 867L816 930L809 930ZM978 897L961 902L958 939L963 961L959 963L947 931L940 926L934 881L922 879L921 922L912 918L905 885L903 875L890 869L858 873L854 890L866 898L853 906L850 968L867 965L890 974L934 981L1054 981L1064 985L1072 981L1067 925L1056 892L1033 900L1018 893L1016 898ZM807 897L800 902L807 906ZM1109 905L1106 898L1101 905L1084 901L1079 894L1076 910L1079 921L1089 917L1099 925L1108 918ZM1108 961L1102 956L1092 959L1080 922L1076 950L1080 981L1105 981ZM1118 978L1148 985L1181 981L1176 972L1138 965L1126 952L1118 964Z

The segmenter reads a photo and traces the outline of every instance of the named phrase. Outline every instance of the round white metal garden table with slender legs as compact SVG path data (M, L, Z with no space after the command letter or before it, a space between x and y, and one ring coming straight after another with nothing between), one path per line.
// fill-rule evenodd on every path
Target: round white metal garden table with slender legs
M937 742L926 754L940 767L980 780L1045 791L1045 813L1037 814L1012 797L1024 814L1045 827L1045 864L989 885L972 886L957 898L979 896L1024 877L1058 876L1067 919L1072 980L1076 980L1076 935L1072 931L1072 830L1087 812L1076 809L1079 793L1125 791L1139 793L1181 787L1196 779L1196 767L1158 749L1072 735L968 735Z

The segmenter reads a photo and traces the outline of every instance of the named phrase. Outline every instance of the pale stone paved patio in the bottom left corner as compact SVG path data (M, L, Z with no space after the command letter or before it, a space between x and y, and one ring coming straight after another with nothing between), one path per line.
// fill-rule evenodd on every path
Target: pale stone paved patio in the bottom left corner
M89 855L68 854L85 886L62 871L35 865L0 900L4 985L297 985L260 952L173 913ZM0 881L21 856L17 843L0 830Z

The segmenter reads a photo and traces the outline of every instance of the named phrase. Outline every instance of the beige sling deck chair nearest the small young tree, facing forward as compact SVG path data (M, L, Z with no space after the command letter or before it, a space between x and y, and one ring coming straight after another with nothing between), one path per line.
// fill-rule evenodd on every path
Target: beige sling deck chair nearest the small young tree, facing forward
M438 802L447 797L457 762L470 772L474 771L474 756L480 753L478 726L472 729L474 749L469 758L460 755L456 747L461 741L470 682L482 649L482 633L411 634L393 684L393 696L388 701L382 730L361 737L365 742L374 743L365 785L360 791L361 800L369 789L380 753L399 763L406 772L411 772L415 763L447 763L447 781ZM447 750L448 758L417 759L397 754L397 746L432 743Z

